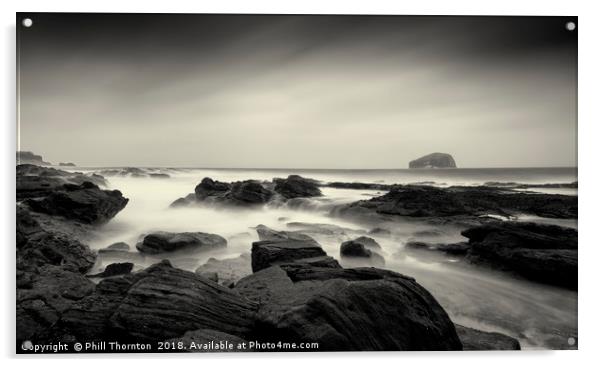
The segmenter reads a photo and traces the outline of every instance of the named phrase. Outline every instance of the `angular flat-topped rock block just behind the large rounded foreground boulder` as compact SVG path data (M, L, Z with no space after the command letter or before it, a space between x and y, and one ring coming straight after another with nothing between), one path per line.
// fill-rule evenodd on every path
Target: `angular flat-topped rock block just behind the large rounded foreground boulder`
M260 241L253 242L251 251L253 272L295 261L310 261L328 267L340 266L336 260L326 255L319 243L306 234L275 231L264 225L257 226L257 234Z

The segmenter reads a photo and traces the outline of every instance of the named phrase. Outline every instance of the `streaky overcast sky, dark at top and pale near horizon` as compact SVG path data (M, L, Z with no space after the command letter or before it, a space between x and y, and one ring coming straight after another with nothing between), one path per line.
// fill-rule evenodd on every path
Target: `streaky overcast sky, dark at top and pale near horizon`
M20 150L82 166L576 166L566 17L19 14Z

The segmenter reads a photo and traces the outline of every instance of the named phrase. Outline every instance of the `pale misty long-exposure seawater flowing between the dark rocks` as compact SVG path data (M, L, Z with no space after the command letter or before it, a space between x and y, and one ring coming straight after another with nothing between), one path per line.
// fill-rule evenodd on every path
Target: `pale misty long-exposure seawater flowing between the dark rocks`
M81 168L77 170L81 171ZM101 169L84 169L100 171ZM415 220L397 219L386 223L361 223L330 214L336 205L369 199L384 192L322 188L323 197L307 199L303 205L266 205L252 209L195 206L169 208L179 197L194 191L203 177L220 181L272 180L300 174L323 182L422 183L435 186L479 185L485 182L528 184L569 183L577 180L574 168L533 169L454 169L454 170L226 170L226 169L153 169L170 178L107 177L110 188L119 189L129 203L113 220L101 227L88 245L93 249L115 242L128 243L133 251L141 236L152 231L208 232L228 240L226 249L209 253L170 254L122 259L133 261L141 269L162 258L174 266L194 271L209 258L235 258L250 253L258 240L254 230L259 224L276 230L298 229L294 223L320 223L341 227L333 234L309 233L330 255L339 260L341 242L353 239L376 227L390 235L369 235L382 246L384 267L416 278L441 303L451 319L464 326L499 331L520 340L523 349L571 348L568 339L577 337L577 292L542 285L509 273L465 263L457 258L405 249L410 240L452 243L466 240L462 228L431 226ZM547 193L576 195L575 189L530 189ZM538 221L576 227L576 220L554 220L519 216L515 220ZM116 259L114 261L118 261ZM343 266L370 266L349 263ZM92 272L107 263L98 263ZM250 268L246 269L250 273Z

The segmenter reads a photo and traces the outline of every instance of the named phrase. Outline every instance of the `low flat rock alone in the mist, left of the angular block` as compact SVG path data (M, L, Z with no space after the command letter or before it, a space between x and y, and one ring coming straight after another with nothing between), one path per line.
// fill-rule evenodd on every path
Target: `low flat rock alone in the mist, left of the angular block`
M216 250L226 247L226 243L225 238L211 233L159 231L144 236L136 248L143 253L160 254L178 250Z

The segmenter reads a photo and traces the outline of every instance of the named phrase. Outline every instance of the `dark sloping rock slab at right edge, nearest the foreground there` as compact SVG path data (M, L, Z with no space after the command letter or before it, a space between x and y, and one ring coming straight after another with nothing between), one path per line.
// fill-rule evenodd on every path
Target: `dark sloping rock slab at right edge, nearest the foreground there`
M502 222L462 232L468 257L539 282L577 289L577 231L523 222Z

